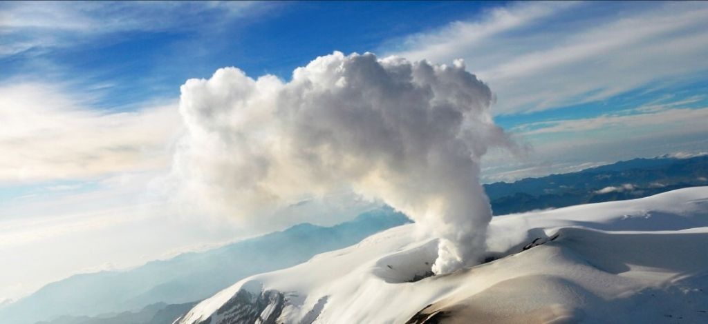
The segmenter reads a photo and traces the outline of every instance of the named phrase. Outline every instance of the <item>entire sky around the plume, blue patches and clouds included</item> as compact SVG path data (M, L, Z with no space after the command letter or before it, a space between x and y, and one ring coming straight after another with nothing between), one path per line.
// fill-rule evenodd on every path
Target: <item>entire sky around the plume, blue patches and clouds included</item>
M0 2L0 243L23 248L0 263L55 269L4 269L0 301L254 233L173 220L150 189L189 78L236 66L288 80L333 51L464 59L495 92L496 123L531 148L484 160L485 181L513 180L708 151L707 16L704 2ZM172 234L135 231L155 224ZM91 253L77 243L98 237Z

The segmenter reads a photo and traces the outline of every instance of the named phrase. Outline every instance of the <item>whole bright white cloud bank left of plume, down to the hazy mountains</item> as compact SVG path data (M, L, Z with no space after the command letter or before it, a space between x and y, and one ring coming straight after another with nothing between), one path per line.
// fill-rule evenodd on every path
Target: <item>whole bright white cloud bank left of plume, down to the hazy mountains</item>
M120 111L93 107L95 99L55 84L0 84L0 299L98 264L136 265L207 236L156 242L141 231L197 232L151 207L159 201L147 193L169 168L182 130L176 102ZM137 246L144 255L135 255Z

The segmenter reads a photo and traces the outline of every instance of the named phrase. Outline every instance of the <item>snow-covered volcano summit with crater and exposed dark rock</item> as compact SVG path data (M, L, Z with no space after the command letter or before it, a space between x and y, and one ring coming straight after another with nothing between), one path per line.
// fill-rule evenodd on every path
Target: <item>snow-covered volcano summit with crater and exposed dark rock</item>
M487 262L430 277L406 224L254 275L176 323L708 323L708 187L494 217Z

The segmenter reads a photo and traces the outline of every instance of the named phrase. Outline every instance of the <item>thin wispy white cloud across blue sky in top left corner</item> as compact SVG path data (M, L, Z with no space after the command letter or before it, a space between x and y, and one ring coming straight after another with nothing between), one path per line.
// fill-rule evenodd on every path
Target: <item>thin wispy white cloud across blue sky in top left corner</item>
M6 1L0 57L109 40L118 32L216 28L270 6L253 1Z

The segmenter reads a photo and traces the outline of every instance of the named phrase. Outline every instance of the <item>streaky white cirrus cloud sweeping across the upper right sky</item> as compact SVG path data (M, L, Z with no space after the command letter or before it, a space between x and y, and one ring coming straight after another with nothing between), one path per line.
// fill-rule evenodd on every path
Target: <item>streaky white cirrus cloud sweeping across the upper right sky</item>
M496 93L495 114L535 112L700 78L708 71L706 16L702 2L514 3L387 52L465 59Z

